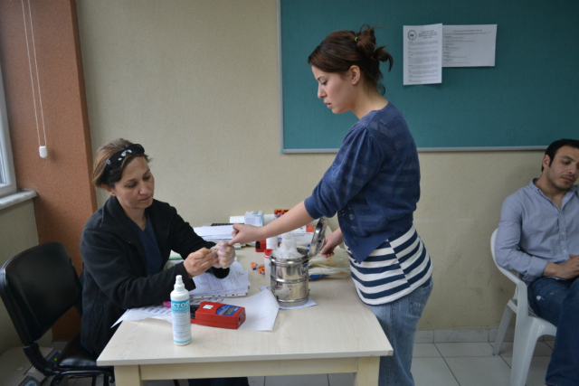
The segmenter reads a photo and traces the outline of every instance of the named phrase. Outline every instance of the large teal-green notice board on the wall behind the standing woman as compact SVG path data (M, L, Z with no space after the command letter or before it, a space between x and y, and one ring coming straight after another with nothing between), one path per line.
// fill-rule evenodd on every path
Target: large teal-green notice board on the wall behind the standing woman
M422 151L543 148L579 138L576 0L278 0L281 152L332 152L356 122L317 98L308 55L328 33L380 27L394 57L385 98ZM403 86L403 25L497 24L495 67L443 68L442 83Z

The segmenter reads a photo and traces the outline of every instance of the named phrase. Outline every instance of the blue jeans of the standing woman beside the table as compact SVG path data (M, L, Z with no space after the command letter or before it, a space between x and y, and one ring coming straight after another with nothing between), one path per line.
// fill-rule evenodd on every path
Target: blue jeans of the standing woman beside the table
M432 278L405 297L381 306L369 306L382 326L394 355L380 357L379 386L413 386L413 344L416 326L432 292Z

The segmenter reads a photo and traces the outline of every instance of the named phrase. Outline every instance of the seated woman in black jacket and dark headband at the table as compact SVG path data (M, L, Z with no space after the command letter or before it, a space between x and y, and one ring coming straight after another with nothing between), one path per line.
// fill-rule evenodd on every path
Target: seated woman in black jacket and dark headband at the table
M90 216L81 236L81 342L100 354L128 308L168 300L181 275L187 290L205 271L225 278L235 258L232 247L212 250L166 202L153 199L155 178L143 146L119 138L97 151L92 183L110 194ZM163 269L171 250L185 260ZM168 342L167 344L171 344ZM247 378L191 380L191 385L247 385Z

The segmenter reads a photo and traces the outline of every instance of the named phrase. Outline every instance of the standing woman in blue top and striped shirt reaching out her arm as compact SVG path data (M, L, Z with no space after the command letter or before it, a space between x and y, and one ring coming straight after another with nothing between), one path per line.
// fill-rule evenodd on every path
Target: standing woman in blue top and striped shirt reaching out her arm
M420 167L402 113L384 99L374 28L331 33L309 55L318 98L333 113L352 111L350 128L334 163L310 197L267 226L234 225L233 240L246 243L294 230L337 213L340 227L321 250L333 255L344 242L360 299L374 312L394 348L380 361L383 385L413 385L413 341L432 291L432 261L413 227L420 198Z

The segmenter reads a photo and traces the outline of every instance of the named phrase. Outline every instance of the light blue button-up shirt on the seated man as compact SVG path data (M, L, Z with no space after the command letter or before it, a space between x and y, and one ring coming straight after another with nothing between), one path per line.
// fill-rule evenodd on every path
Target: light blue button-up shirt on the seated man
M535 185L509 195L498 223L495 256L500 267L530 282L543 276L547 262L560 264L579 255L579 190L573 185L561 209Z

